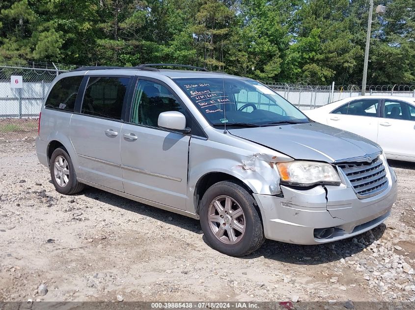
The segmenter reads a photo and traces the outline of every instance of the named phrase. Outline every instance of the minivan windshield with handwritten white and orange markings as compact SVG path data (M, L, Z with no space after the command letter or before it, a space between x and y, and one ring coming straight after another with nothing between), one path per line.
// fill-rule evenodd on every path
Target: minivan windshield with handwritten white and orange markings
M265 85L244 78L176 78L213 126L260 127L309 122L307 117Z

